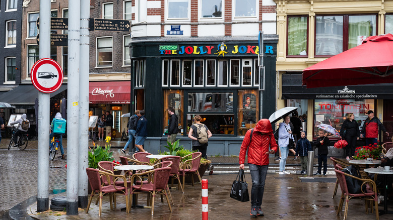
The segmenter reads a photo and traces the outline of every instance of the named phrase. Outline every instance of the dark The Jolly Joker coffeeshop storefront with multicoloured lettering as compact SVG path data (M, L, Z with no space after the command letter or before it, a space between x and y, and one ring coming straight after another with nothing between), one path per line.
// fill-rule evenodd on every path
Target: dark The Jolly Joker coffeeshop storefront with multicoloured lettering
M275 104L267 104L275 103L274 37L265 39L265 73L259 72L257 39L130 43L136 108L146 109L148 120L145 148L166 149L167 109L173 107L181 145L191 149L188 132L193 117L200 115L213 134L208 155L237 155L246 131L275 111Z

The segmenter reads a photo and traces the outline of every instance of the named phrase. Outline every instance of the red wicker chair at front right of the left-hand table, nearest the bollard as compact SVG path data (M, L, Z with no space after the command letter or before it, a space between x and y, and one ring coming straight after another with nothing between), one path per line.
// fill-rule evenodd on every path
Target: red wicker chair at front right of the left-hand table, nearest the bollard
M154 170L146 171L143 173L136 173L133 175L133 181L134 178L137 178L140 180L140 184L133 185L133 190L131 191L131 194L138 194L142 192L148 192L151 195L148 196L148 204L151 203L151 206L145 206L145 207L151 207L152 212L151 214L154 214L154 199L157 193L162 193L166 197L166 201L168 203L169 211L172 212L171 204L169 202L168 194L167 194L167 189L168 189L168 180L169 180L169 175L170 175L171 168L170 167L162 167L162 168L157 168ZM148 182L144 183L142 181L141 176L146 176L148 175Z

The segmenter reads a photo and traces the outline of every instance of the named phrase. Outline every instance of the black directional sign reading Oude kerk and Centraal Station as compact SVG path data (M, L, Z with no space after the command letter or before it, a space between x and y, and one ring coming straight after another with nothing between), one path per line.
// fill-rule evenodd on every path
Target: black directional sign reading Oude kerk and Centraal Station
M131 29L128 20L115 20L115 19L90 19L90 31L126 31Z

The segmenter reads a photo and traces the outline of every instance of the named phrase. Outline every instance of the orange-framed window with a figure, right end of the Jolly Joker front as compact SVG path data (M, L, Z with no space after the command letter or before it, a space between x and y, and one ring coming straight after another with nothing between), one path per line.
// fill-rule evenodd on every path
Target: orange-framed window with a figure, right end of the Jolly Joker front
M258 121L258 90L239 90L238 97L238 134L244 136L247 130L254 128Z

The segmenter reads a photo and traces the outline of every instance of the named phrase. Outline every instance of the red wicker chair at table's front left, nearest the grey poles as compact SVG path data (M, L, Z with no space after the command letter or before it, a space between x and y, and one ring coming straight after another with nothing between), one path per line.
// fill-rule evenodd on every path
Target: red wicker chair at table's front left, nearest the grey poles
M91 204L91 201L93 199L93 196L98 193L99 194L99 200L100 200L100 205L98 208L98 216L101 216L101 209L102 209L102 196L105 194L112 195L113 193L121 193L125 195L125 206L127 212L129 212L129 203L128 203L128 191L127 191L127 181L123 175L114 175L109 172L105 172L102 170L97 170L93 168L86 168L86 173L89 178L90 182L90 187L92 189L92 192L90 194L89 202L87 204L86 208L86 213L89 211L89 207ZM101 179L106 178L106 182L108 185L105 185ZM113 179L113 182L117 182L119 179L123 179L124 185L116 185L109 179ZM110 202L110 209L113 210L112 207L112 196L109 196L109 202Z

